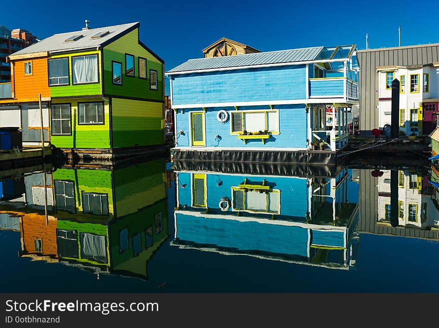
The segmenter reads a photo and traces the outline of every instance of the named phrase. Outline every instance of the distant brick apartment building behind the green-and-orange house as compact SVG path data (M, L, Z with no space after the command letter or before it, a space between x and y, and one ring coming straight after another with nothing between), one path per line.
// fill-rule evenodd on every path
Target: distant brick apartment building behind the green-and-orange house
M6 56L36 41L36 37L25 29L10 30L0 25L0 83L10 82L10 63L6 62Z

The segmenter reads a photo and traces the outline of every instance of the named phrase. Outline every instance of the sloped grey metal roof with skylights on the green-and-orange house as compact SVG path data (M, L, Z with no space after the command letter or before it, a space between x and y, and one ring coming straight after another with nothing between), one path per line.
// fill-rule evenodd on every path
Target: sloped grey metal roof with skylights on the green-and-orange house
M99 45L102 45L106 41L109 41L110 39L127 31L130 28L137 27L136 25L139 26L139 22L54 34L37 43L25 47L24 49L16 51L11 55L15 56L20 54L43 52L43 51L49 51L55 53L55 52L64 52L70 50L94 48ZM93 35L105 31L109 31L109 33L104 35L103 37L91 38ZM65 41L74 35L83 35L83 36L75 41L70 41L70 42Z

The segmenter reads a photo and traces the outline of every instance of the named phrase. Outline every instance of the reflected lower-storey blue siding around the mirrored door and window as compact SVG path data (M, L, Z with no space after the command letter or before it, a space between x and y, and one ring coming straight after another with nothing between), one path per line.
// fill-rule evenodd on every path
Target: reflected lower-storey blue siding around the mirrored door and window
M179 178L179 204L192 206L191 173L180 172ZM297 177L257 177L239 175L218 175L207 174L207 206L212 209L219 209L219 202L222 197L232 199L232 186L241 184L245 178L255 184L262 183L265 179L266 185L273 189L280 190L280 215L288 216L290 219L305 221L305 213L308 211L308 189L306 179ZM184 188L181 186L186 184ZM218 186L218 184L220 184ZM232 209L223 212L231 214ZM257 215L257 214L255 214Z

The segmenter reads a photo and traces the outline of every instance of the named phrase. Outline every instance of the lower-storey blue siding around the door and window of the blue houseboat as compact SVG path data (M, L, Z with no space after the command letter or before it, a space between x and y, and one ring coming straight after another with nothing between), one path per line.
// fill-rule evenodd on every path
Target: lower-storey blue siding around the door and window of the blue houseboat
M240 110L257 110L262 107L248 106L239 107ZM234 111L233 107L207 108L205 113L206 124L206 146L207 147L292 147L305 148L308 133L307 113L305 113L305 105L282 105L274 106L273 109L279 110L279 132L278 135L271 135L263 144L259 139L247 140L247 143L230 134L230 118L227 122L221 123L217 119L220 109L225 109L229 113ZM265 106L264 109L269 109ZM200 111L201 108L185 109L182 114L177 112L176 131L183 131L184 134L177 135L177 147L191 146L190 143L190 112L193 110ZM217 138L219 135L220 138ZM194 147L195 148L195 147ZM203 150L203 147L197 147Z

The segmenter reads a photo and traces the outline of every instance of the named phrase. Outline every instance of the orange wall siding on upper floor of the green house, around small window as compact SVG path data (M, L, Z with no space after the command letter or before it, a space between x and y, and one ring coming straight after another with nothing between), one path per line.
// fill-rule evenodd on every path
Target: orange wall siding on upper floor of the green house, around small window
M32 74L24 75L24 63L32 61ZM13 61L13 90L18 101L38 100L41 97L50 97L48 85L47 58L27 58Z

